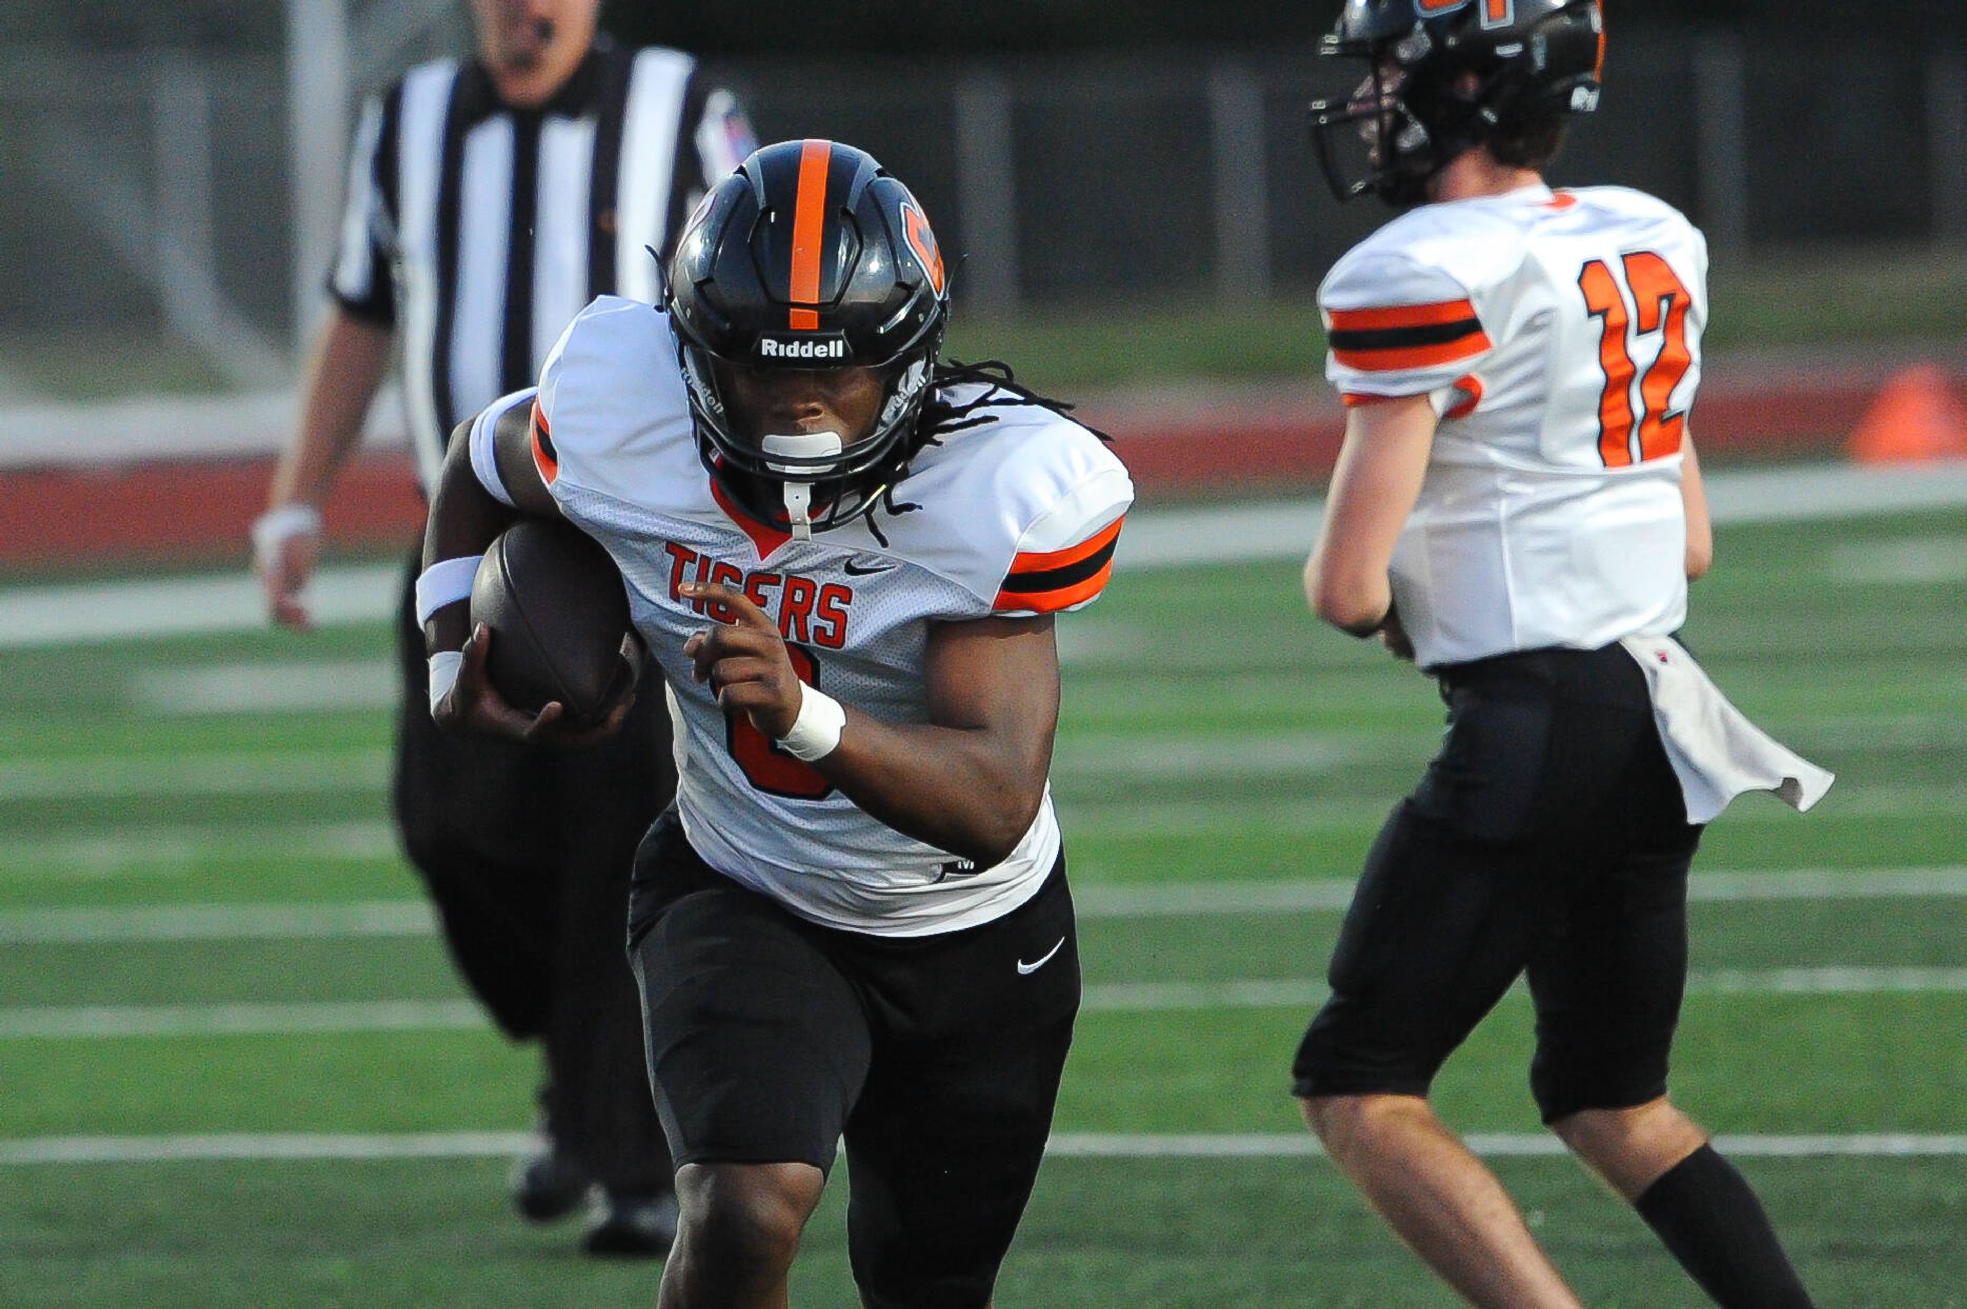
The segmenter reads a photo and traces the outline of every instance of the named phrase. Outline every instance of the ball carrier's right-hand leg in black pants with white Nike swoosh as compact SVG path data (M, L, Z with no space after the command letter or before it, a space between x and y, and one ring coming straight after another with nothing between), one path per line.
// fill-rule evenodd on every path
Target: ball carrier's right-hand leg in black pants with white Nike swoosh
M997 922L858 951L875 1057L846 1126L867 1309L984 1309L1050 1136L1080 1002L1064 865Z

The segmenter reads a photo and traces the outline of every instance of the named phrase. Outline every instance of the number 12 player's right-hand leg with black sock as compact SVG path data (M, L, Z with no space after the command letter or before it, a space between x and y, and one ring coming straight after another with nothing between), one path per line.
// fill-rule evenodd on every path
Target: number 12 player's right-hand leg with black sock
M1629 851L1570 902L1530 963L1538 1006L1532 1089L1544 1120L1654 1228L1725 1309L1808 1309L1749 1181L1666 1095L1686 985L1686 879L1699 829L1650 733L1619 800L1597 816Z

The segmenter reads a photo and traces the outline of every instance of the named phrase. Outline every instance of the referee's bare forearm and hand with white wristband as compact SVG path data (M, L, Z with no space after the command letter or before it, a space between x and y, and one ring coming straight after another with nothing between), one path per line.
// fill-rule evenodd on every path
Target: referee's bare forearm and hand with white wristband
M268 509L254 523L254 568L268 611L283 627L309 627L301 590L321 552L321 501L362 442L362 419L389 368L393 334L336 309L307 371L301 427L279 454Z

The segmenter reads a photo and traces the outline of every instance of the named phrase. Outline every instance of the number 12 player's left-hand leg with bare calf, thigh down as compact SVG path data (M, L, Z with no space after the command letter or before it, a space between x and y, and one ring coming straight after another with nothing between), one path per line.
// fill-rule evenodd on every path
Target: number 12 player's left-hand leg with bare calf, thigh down
M1477 1305L1574 1309L1501 1181L1428 1085L1517 979L1530 879L1410 804L1381 831L1294 1063L1306 1124L1367 1203Z

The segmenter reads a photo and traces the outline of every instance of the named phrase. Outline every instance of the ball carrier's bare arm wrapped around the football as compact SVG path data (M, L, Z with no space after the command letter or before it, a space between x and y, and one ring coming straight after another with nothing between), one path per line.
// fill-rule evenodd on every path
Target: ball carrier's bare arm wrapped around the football
M431 499L431 523L423 535L425 568L450 558L484 554L519 515L561 517L559 505L533 464L529 409L529 405L507 409L492 430L500 482L513 507L500 503L472 468L472 423L460 423L450 434L445 470L437 482L437 495ZM543 706L537 715L515 710L486 676L484 664L492 649L492 633L484 625L476 631L470 629L470 605L462 598L431 613L423 625L423 643L429 654L445 651L464 654L456 682L431 706L431 715L445 731L478 731L515 741L578 745L616 731L631 704L631 700L624 702L606 723L588 731L563 727L566 706L559 702Z

